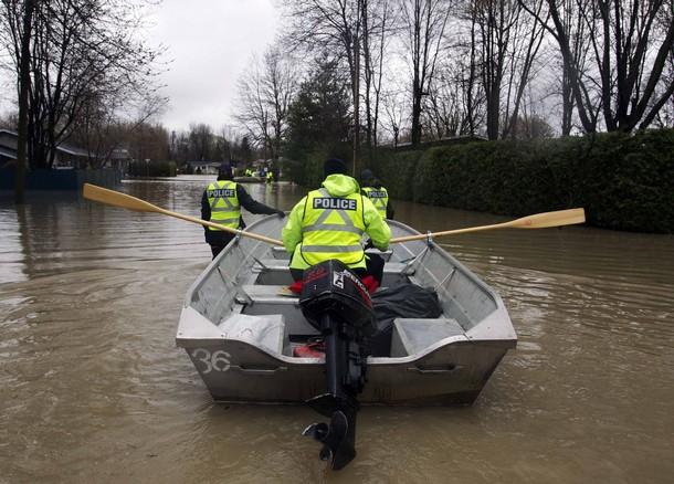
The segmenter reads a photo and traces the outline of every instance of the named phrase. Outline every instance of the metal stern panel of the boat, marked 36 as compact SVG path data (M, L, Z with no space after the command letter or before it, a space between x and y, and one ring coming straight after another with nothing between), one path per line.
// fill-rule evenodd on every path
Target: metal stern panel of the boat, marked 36
M302 403L325 391L323 360L282 360L242 341L214 343L186 351L215 401ZM471 404L506 351L499 345L463 341L447 344L420 359L369 358L367 385L358 400L406 406Z

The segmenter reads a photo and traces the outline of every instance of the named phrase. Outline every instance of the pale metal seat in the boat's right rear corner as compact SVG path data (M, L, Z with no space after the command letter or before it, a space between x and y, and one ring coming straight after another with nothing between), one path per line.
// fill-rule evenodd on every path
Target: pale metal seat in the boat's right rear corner
M414 355L441 339L461 335L465 335L465 332L453 318L399 317L393 320L391 357Z

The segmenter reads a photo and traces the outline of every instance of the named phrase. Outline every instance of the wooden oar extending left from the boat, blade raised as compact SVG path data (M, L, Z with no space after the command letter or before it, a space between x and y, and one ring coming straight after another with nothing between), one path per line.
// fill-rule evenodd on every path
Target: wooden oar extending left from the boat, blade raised
M240 231L238 229L221 225L220 223L208 222L206 220L197 219L196 217L183 215L182 213L178 212L171 212L170 210L154 206L149 202L146 202L145 200L131 197L130 194L122 193L115 190L108 190L107 188L97 187L95 185L84 183L82 194L88 200L94 200L108 206L120 207L123 209L135 210L137 212L161 213L164 215L175 217L176 219L187 220L188 222L199 223L200 225L224 230L225 232L240 233L243 236L255 239L270 244L283 245L283 242L275 239L270 239L268 236L260 235L253 232Z

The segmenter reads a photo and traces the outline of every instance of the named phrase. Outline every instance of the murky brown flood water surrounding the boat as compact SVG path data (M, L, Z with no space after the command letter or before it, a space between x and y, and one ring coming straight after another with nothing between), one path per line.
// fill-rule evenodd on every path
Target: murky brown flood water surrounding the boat
M123 191L199 217L208 178ZM248 186L288 210L303 191ZM397 202L425 230L505 219ZM252 221L255 215L245 214ZM443 245L519 343L470 408L365 408L330 473L303 407L214 404L173 338L202 229L76 197L0 200L0 483L670 483L674 238L492 231Z

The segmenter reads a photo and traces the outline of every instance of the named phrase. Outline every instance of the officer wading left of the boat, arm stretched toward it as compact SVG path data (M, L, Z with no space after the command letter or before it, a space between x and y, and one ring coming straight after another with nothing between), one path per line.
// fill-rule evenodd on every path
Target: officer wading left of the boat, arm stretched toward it
M252 213L266 215L276 213L278 217L285 217L282 210L255 201L243 186L232 181L232 167L228 164L221 165L218 170L218 181L210 183L201 197L201 220L210 220L232 229L244 229L241 206ZM211 245L215 259L235 234L210 227L204 229L206 241Z

